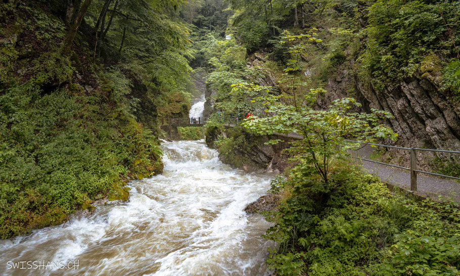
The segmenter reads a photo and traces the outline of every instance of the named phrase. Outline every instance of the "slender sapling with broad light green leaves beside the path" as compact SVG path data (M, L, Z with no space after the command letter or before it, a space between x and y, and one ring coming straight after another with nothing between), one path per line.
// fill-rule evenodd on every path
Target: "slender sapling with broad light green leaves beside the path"
M292 142L289 149L295 162L309 164L311 172L317 172L324 182L328 182L331 162L335 158L344 158L349 149L356 145L346 139L360 142L373 142L376 139L396 140L397 134L382 120L392 118L386 111L372 109L370 113L355 112L353 107L360 104L353 98L335 100L326 110L313 109L318 93L324 89L311 89L304 96L302 105L297 107L285 104L293 96L265 96L256 99L267 106L266 117L250 117L243 126L259 135L273 133L297 133L303 137ZM277 144L280 140L271 140Z

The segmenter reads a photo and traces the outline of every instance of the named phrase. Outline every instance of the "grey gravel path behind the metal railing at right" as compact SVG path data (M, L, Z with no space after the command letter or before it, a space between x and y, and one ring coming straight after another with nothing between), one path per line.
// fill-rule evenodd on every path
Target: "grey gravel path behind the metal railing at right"
M374 148L367 145L364 148L355 151L352 155L355 157L371 159L369 156L373 153L373 151ZM362 166L366 171L379 176L382 181L403 188L404 190L410 190L410 172L408 170L364 160L359 160L358 162L362 162ZM418 173L417 192L415 194L424 197L428 196L433 199L438 199L439 196L443 196L445 198L452 198L456 202L460 202L460 182L453 179Z

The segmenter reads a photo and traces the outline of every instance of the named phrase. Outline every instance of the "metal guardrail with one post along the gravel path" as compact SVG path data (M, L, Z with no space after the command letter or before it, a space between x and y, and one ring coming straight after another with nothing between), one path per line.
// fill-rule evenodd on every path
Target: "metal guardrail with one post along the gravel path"
M346 142L352 142L352 143L360 143L360 144L365 144L365 145L374 145L374 146L379 146L379 147L385 147L385 148L392 148L392 149L399 149L399 150L405 150L409 151L409 160L410 160L410 167L402 167L402 166L397 166L393 164L388 164L384 162L379 162L371 159L366 159L366 158L359 158L359 157L354 157L355 159L360 159L364 160L367 162L373 162L377 164L382 164L386 166L391 166L391 167L396 167L400 169L405 169L410 171L410 190L411 191L417 191L417 173L426 173L430 175L436 175L436 176L441 176L441 177L447 177L447 178L452 178L456 180L460 180L460 177L455 177L455 176L450 176L450 175L444 175L444 174L439 174L439 173L434 173L430 171L423 171L423 170L418 170L417 169L417 151L429 151L429 152L443 152L443 153L455 153L455 154L460 154L458 151L446 151L446 150L431 150L431 149L421 149L421 148L403 148L403 147L395 147L395 146L389 146L389 145L382 145L382 144L374 144L374 143L362 143L354 140L345 140Z

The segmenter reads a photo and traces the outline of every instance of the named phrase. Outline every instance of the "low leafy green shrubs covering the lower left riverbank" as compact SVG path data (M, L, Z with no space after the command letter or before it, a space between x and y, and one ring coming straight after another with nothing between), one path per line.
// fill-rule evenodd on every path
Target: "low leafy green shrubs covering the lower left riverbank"
M100 91L13 86L0 95L0 238L61 223L79 206L125 193L128 177L162 171L151 133L120 110Z

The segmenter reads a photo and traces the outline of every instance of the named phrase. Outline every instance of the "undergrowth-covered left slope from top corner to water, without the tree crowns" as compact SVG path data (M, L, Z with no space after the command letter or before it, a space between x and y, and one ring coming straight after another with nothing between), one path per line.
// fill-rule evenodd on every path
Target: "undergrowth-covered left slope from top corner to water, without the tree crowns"
M134 115L139 100L126 69L87 62L85 45L76 47L81 56L60 55L62 21L23 4L11 5L5 14L21 16L6 20L4 7L1 239L62 223L98 199L127 200L126 181L163 169L157 139ZM84 74L72 60L86 61Z

